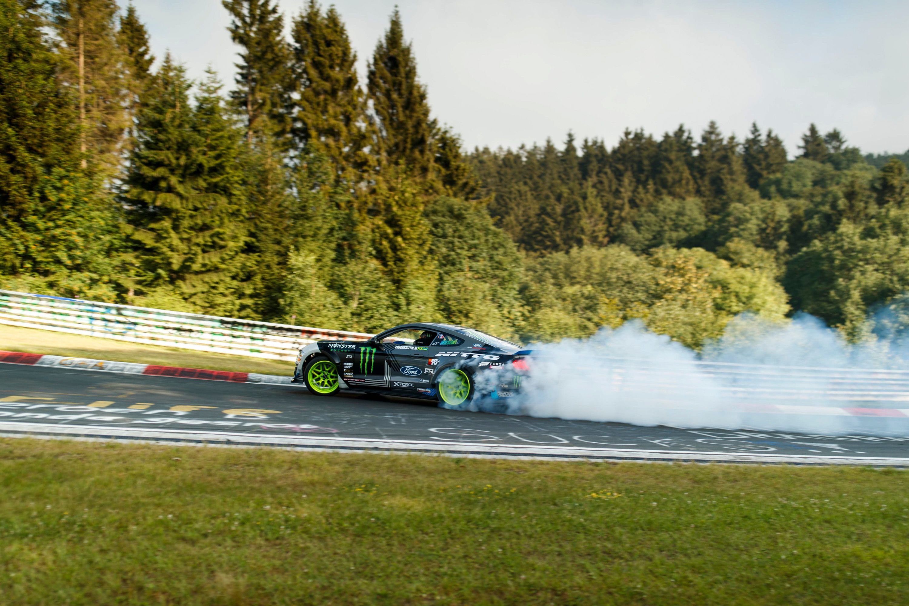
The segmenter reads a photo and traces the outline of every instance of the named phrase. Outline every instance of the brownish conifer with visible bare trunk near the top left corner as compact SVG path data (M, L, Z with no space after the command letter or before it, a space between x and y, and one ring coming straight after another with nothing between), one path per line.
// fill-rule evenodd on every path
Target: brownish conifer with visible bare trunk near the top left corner
M83 166L92 161L113 175L128 124L124 55L118 44L115 0L59 0L52 4L64 82L75 91Z

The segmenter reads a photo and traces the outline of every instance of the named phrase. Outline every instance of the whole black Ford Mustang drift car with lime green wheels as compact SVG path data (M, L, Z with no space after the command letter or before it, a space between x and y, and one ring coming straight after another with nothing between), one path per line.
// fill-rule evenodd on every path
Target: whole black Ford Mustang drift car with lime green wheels
M300 349L293 382L317 395L342 389L436 400L466 410L472 402L517 394L529 370L519 345L452 324L403 324L369 341L319 341Z

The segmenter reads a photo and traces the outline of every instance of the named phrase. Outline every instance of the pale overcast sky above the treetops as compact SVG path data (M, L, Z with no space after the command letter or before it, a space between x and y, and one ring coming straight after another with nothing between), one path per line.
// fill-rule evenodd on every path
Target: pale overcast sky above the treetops
M152 48L192 77L233 84L221 0L133 0ZM124 2L124 0L121 0ZM280 0L289 24L305 0ZM325 3L325 5L330 3ZM662 134L752 121L794 154L814 122L865 152L909 148L909 2L337 0L366 59L400 6L433 113L467 147L612 146L626 127Z

